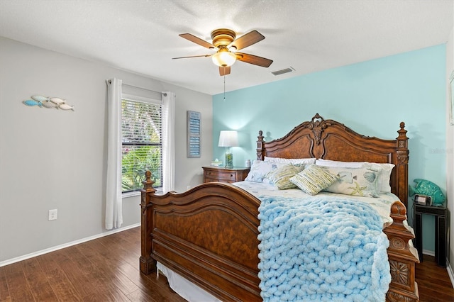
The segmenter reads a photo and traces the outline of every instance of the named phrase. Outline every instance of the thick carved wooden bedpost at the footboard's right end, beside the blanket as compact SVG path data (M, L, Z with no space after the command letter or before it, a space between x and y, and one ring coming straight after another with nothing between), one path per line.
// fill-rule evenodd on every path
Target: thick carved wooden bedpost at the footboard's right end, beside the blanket
M418 252L409 244L413 232L404 225L406 208L400 201L391 206L393 223L383 232L389 239L388 259L391 269L391 284L387 301L419 301L418 284L415 282L415 267L419 263Z

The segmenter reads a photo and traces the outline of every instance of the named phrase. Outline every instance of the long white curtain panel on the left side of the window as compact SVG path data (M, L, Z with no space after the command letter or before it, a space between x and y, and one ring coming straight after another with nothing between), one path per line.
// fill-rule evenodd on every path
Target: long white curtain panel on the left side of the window
M121 213L121 79L107 81L108 143L106 229L120 228Z

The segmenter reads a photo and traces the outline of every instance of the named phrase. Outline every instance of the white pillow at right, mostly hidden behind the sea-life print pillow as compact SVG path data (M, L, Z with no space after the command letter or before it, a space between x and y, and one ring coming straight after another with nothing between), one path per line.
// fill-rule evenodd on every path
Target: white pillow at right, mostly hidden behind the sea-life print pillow
M377 162L340 162L337 160L316 160L316 163L319 166L325 167L340 167L340 168L372 168L372 169L382 169L380 177L378 179L378 188L381 193L391 192L391 186L389 182L391 181L391 172L394 168L394 164L379 164Z

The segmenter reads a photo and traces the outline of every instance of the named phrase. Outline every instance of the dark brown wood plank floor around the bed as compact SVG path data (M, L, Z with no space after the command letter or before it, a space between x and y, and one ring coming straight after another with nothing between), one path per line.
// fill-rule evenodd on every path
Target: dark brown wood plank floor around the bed
M0 267L0 301L184 301L164 276L138 271L140 228ZM454 301L448 272L424 256L421 301Z

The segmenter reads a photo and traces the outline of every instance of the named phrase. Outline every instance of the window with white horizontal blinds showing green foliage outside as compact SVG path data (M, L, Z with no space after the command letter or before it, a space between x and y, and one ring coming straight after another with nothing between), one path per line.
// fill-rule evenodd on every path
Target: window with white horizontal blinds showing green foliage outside
M145 171L162 187L162 108L160 101L141 97L121 100L121 191L143 188Z

